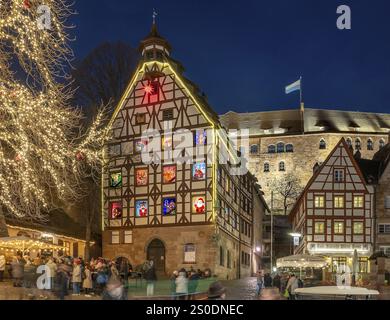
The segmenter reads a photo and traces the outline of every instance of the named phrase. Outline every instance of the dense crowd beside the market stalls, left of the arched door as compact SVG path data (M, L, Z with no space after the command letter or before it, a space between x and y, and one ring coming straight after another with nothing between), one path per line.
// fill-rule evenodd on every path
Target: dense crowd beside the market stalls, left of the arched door
M101 295L105 299L125 299L125 286L132 266L126 261L107 261L103 258L86 262L81 257L53 258L16 255L7 264L4 256L0 256L0 281L8 266L8 273L14 287L35 288L37 268L46 266L49 272L45 289L51 290L60 299L71 292L74 296L84 294L86 297ZM118 296L118 292L120 295Z

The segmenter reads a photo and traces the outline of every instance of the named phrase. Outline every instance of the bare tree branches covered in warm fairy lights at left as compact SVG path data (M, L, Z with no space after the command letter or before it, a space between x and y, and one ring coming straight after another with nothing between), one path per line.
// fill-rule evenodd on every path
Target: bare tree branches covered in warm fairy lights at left
M50 29L38 28L42 4ZM18 217L43 218L53 199L77 197L108 137L103 111L82 130L72 92L58 81L72 58L71 13L65 0L0 0L0 204Z

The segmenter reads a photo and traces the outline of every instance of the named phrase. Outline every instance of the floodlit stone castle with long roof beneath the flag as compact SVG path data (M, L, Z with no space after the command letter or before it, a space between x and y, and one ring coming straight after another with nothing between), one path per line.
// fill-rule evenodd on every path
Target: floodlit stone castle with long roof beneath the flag
M305 108L228 112L220 120L227 129L250 129L249 168L261 181L269 204L271 181L293 174L305 186L313 168L325 161L341 138L366 159L372 159L389 141L390 114ZM277 213L281 208L275 203L274 209Z

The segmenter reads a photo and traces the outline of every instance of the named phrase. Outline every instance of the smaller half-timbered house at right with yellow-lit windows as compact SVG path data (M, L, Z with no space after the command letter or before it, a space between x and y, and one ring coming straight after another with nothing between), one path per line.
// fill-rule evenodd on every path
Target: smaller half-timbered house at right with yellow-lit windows
M295 253L328 257L329 272L352 267L355 250L359 271L367 273L374 243L374 188L365 180L351 149L342 139L315 169L290 218L302 235Z

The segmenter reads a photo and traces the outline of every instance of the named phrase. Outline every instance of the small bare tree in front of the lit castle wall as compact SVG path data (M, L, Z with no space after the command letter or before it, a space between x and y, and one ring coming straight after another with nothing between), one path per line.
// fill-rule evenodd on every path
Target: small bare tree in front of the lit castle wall
M270 189L274 192L274 207L283 210L284 215L288 214L303 191L300 179L294 173L272 180Z

